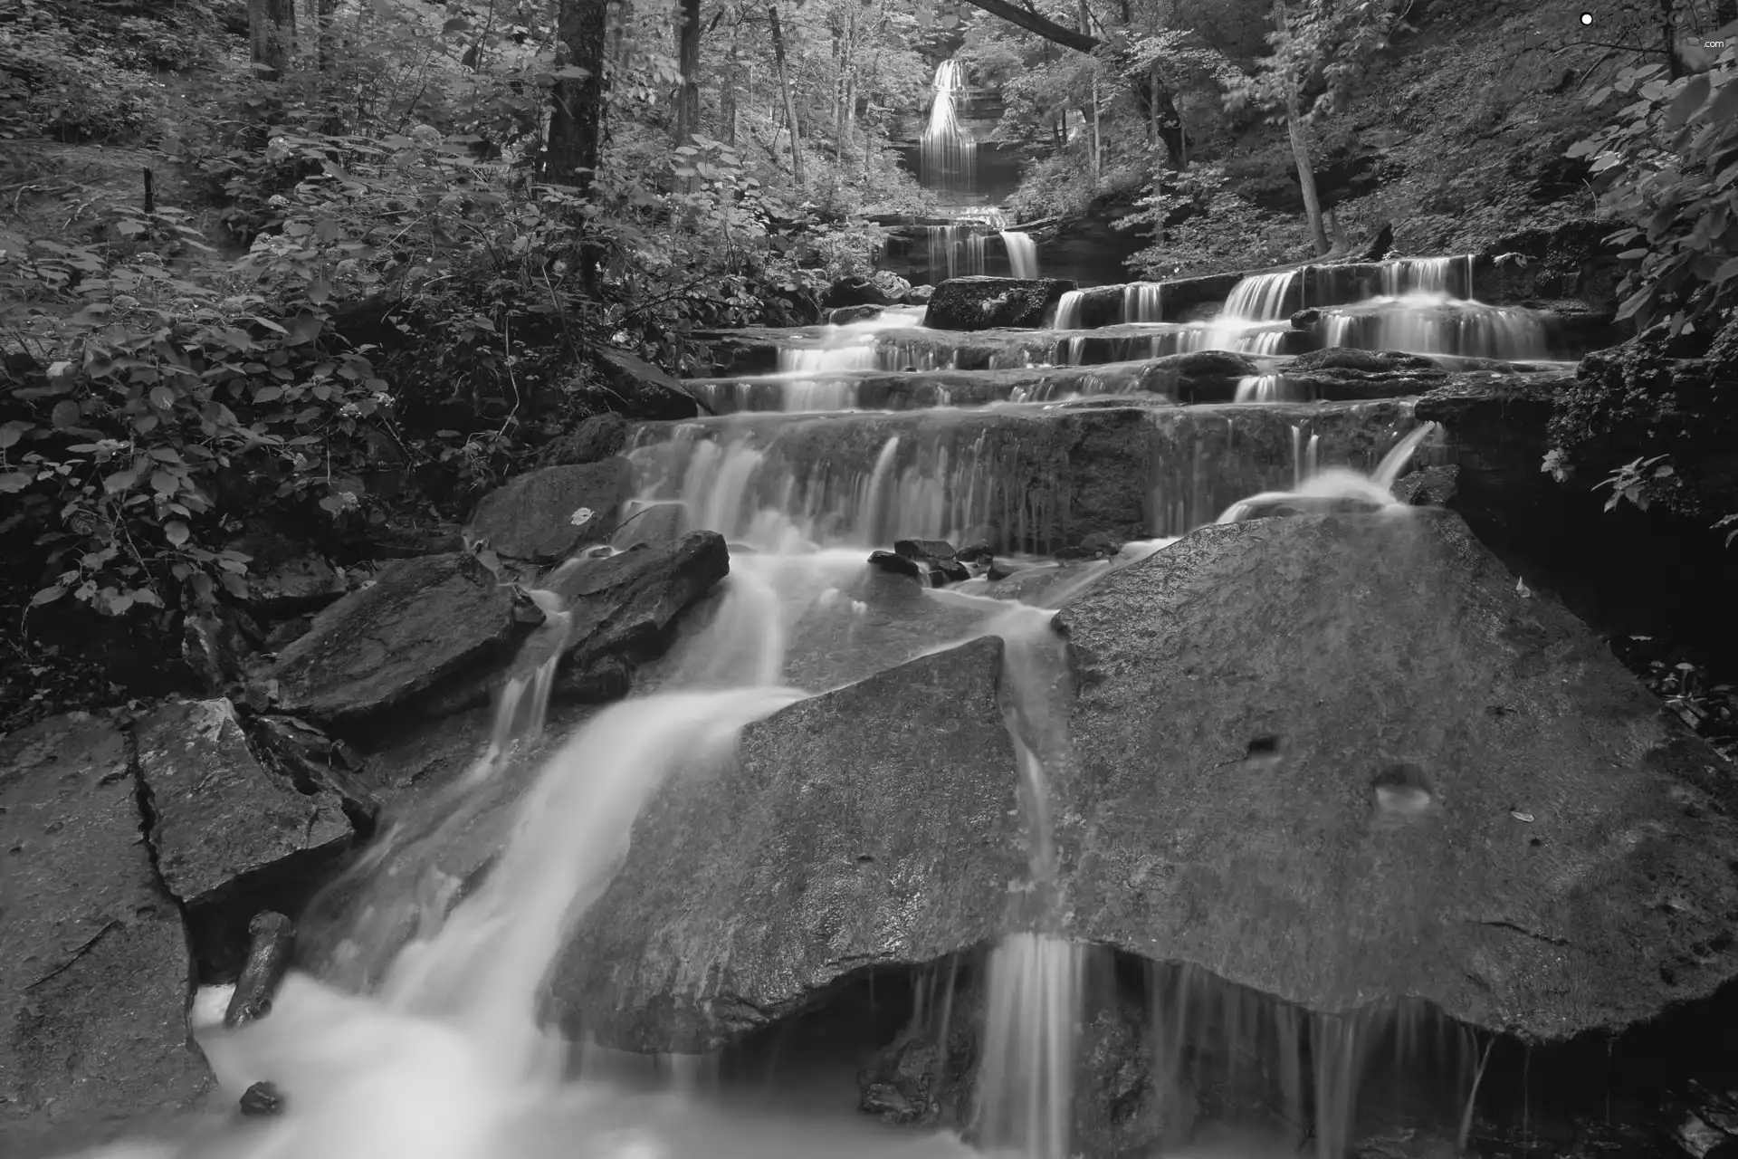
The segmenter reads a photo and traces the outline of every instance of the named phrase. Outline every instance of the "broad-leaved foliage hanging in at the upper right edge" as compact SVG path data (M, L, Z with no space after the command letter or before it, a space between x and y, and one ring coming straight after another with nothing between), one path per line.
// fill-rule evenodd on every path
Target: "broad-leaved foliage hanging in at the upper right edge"
M1738 26L1733 28L1738 35ZM1738 302L1738 49L1707 71L1665 78L1660 63L1625 68L1589 97L1613 120L1578 141L1601 209L1635 222L1613 240L1635 245L1620 318L1665 320L1674 334Z

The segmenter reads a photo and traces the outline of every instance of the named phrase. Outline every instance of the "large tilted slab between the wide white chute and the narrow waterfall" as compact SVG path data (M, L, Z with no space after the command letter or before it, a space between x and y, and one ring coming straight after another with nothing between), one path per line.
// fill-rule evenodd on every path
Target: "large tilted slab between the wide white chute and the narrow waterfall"
M568 1029L699 1051L867 963L996 933L1025 871L1013 747L982 639L749 725L732 766L666 787L556 968Z

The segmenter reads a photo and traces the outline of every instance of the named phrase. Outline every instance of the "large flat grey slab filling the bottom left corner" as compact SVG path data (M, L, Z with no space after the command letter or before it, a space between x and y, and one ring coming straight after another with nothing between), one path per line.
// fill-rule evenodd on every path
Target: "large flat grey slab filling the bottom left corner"
M186 933L139 827L111 721L75 712L0 738L0 1154L64 1154L209 1086L188 1043Z

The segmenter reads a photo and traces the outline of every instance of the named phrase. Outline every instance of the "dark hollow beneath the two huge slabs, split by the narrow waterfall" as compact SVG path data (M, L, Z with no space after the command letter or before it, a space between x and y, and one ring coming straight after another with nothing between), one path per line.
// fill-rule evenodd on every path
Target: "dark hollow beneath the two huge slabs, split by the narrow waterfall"
M977 947L853 971L720 1051L720 1091L780 1091L831 1109L850 1102L886 1123L956 1128L972 1142L985 961ZM1081 997L1072 1152L1086 1159L1151 1154L1227 1129L1302 1154L1338 1131L1347 1154L1387 1159L1453 1154L1462 1143L1476 1156L1672 1154L1688 1150L1679 1140L1696 1124L1721 1147L1738 1138L1726 1136L1738 1129L1738 1043L1722 1032L1738 1020L1738 985L1623 1034L1554 1044L1470 1027L1410 999L1310 1015L1197 966L1109 947L1088 954ZM1350 1105L1335 1074L1357 1076Z

